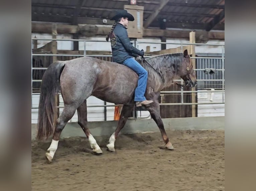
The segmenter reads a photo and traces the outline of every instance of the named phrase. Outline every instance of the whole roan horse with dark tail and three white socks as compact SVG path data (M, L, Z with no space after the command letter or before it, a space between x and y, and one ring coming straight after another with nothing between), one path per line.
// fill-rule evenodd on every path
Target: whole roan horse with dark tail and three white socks
M187 50L183 53L164 54L145 60L152 67L146 62L141 62L141 59L138 60L148 72L145 97L154 102L144 106L159 127L165 147L173 150L160 117L158 96L163 88L171 85L175 77L181 77L186 86L195 87L197 79L193 64ZM88 129L86 99L90 95L107 102L123 104L118 126L107 144L109 151L115 151L114 143L117 135L134 109L133 99L137 81L138 75L128 67L91 57L56 61L51 64L42 78L37 123L39 140L46 139L53 134L52 142L47 149L49 152L46 152L48 161L53 159L60 133L76 110L78 111L78 124L88 137L91 148L95 153L102 153ZM57 118L55 95L59 91L64 101L64 109Z

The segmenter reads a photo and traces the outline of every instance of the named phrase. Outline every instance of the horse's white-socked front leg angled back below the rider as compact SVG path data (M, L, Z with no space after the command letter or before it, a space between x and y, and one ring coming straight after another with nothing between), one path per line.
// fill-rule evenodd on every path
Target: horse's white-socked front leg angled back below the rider
M115 151L115 140L118 135L118 133L121 131L121 129L124 127L130 112L133 109L133 105L124 105L122 108L122 112L120 114L120 119L118 121L117 128L115 132L110 136L109 138L109 144L107 144L107 148L109 151L114 152Z

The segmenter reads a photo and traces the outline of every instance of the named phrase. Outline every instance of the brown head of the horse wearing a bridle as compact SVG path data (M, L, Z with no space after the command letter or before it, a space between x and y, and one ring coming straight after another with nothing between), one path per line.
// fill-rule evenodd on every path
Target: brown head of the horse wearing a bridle
M187 53L187 50L184 50L183 56L184 59L182 59L180 78L184 80L185 86L195 87L197 85L197 77L193 69L193 63Z

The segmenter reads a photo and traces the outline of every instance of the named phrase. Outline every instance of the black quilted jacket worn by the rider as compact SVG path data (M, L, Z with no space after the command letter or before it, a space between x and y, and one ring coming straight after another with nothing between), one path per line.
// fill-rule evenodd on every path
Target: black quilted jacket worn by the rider
M126 27L118 23L110 35L113 62L123 64L128 58L144 56L143 51L132 46L126 30Z

